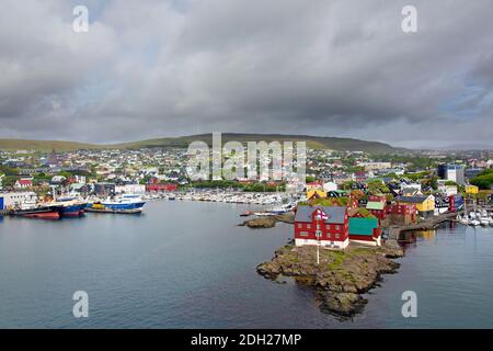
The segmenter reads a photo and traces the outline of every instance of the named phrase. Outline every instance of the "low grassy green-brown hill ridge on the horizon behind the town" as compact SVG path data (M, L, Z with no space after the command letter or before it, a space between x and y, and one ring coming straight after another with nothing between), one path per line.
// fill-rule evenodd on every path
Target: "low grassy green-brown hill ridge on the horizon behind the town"
M341 151L367 151L372 154L395 152L402 150L394 148L386 143L368 141L353 138L321 137L310 135L284 135L284 134L244 134L244 133L222 133L222 143L238 140L246 141L306 141L308 148L313 149L333 149ZM181 137L164 137L156 139L146 139L139 141L121 144L89 144L77 141L60 140L24 140L24 139L0 139L0 149L102 149L102 148L145 148L145 147L187 147L194 140L203 140L208 145L213 143L213 135L198 134Z

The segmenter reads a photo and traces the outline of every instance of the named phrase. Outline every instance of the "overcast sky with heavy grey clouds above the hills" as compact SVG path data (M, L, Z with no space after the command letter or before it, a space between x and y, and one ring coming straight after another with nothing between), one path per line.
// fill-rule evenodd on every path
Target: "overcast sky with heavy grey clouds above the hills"
M89 32L72 31L77 4ZM401 10L417 9L417 33ZM0 138L493 147L491 0L0 2Z

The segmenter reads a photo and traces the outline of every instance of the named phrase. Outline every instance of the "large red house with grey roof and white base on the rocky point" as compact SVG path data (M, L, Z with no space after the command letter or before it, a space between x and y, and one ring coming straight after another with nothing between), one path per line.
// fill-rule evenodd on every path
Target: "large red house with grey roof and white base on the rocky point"
M320 245L344 249L349 244L345 206L298 206L295 216L296 246Z

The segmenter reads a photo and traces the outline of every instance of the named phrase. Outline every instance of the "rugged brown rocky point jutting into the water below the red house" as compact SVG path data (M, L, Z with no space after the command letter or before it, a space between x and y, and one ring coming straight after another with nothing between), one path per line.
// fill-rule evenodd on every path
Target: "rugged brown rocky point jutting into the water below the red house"
M403 256L395 241L385 246L349 246L344 251L317 247L287 245L276 250L272 261L256 267L256 271L276 281L290 276L296 282L316 288L320 309L340 318L352 317L366 305L362 294L375 287L381 274L395 273L400 264L392 259Z

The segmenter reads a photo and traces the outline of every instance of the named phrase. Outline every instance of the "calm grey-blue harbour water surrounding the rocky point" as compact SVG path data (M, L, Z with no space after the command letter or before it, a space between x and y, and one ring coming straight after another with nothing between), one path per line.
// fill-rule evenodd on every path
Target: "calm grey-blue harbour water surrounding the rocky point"
M341 322L319 310L311 288L255 272L291 227L238 227L245 208L152 202L142 216L0 217L0 327L493 327L493 229L416 234L399 273ZM417 318L401 315L409 290ZM72 316L76 291L89 294L89 318Z

